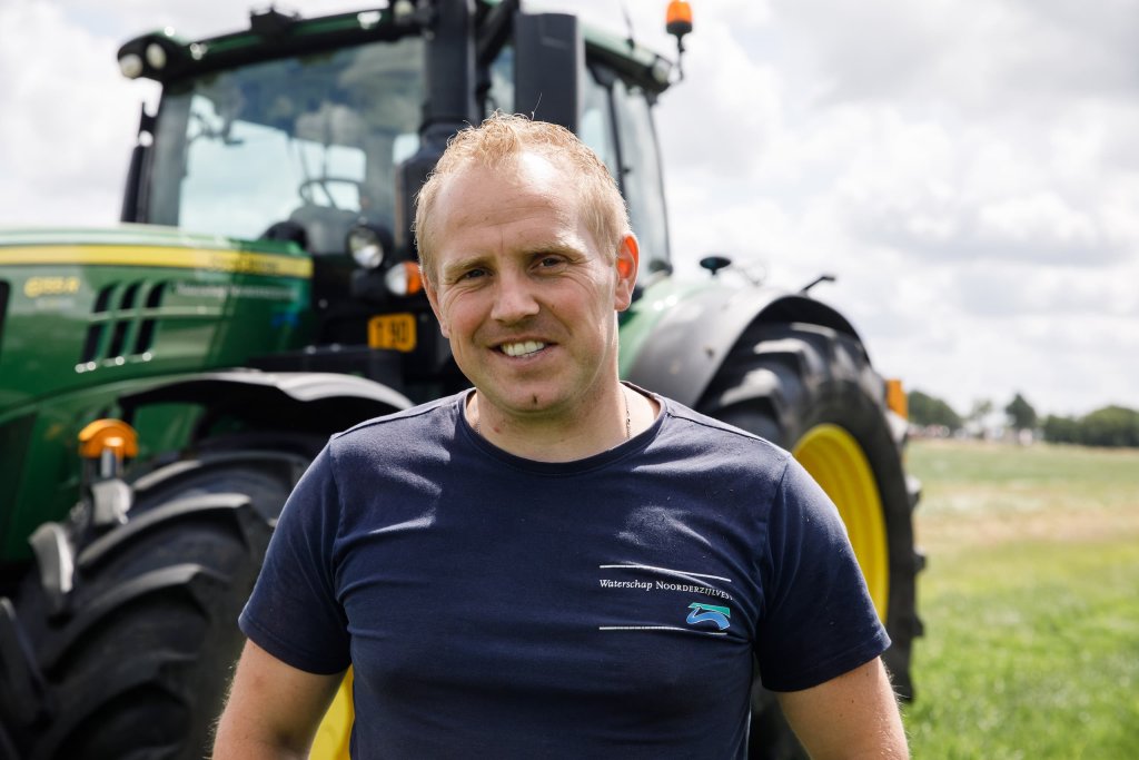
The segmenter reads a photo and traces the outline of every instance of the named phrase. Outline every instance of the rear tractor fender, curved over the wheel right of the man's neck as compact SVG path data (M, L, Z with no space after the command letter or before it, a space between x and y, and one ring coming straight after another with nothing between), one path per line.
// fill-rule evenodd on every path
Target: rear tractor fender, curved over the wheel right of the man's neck
M699 291L657 321L626 373L626 379L696 408L724 359L753 325L805 322L859 338L831 307L763 286L718 286Z

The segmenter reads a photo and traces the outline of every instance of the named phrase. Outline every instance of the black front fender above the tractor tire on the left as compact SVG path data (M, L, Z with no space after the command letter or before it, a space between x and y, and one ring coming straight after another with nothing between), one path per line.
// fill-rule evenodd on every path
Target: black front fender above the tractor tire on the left
M399 391L355 375L256 369L180 375L120 399L128 418L139 407L171 402L198 403L261 428L287 420L289 428L323 434L413 406Z

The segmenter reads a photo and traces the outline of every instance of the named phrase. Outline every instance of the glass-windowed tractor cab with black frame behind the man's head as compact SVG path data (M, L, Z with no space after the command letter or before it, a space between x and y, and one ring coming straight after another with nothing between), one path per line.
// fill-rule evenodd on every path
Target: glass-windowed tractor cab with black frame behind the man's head
M410 228L446 139L494 111L574 130L620 183L646 271L667 270L650 106L671 65L517 2L410 6L313 21L270 9L236 34L126 42L123 73L163 90L141 120L123 221L290 242L313 259L314 344L418 353L405 374L437 377L446 352L423 346Z

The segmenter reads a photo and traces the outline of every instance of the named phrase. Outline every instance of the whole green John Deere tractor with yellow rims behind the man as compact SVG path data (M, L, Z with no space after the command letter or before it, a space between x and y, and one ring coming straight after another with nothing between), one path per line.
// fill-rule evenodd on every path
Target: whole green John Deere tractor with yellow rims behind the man
M669 60L517 0L396 0L155 32L118 62L162 85L124 223L0 231L0 758L202 757L311 458L466 385L409 222L446 139L494 109L568 126L612 169L644 272L623 376L794 451L842 510L910 693L900 386L805 291L721 259L672 276L652 119ZM313 757L346 757L350 694ZM753 717L753 757L795 755L759 687Z

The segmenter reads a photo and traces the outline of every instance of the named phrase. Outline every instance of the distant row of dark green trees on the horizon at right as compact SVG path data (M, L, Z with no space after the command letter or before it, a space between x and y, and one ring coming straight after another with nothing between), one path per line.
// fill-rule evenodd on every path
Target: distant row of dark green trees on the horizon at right
M921 391L909 393L910 424L923 428L980 434L993 409L992 402L978 401L968 415L961 416L941 399ZM1139 448L1139 411L1126 407L1105 407L1083 417L1049 415L1040 422L1032 404L1017 393L1003 411L1008 428L1032 431L1052 443Z

